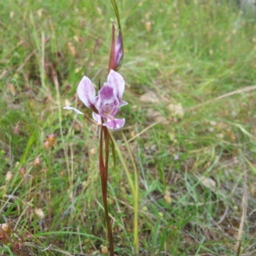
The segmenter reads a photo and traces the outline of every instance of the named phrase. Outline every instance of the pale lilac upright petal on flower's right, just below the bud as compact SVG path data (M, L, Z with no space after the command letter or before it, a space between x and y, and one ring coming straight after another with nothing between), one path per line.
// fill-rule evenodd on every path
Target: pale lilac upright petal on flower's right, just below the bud
M114 89L116 97L119 101L121 101L125 86L124 78L114 70L110 70L108 74L108 85Z

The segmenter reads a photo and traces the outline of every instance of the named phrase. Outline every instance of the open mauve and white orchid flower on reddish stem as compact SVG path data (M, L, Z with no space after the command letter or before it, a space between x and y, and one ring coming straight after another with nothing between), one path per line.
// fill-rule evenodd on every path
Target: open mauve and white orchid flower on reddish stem
M125 124L125 118L115 118L119 108L127 105L127 102L122 100L124 88L124 78L114 70L110 70L108 81L99 90L98 96L96 96L92 82L86 76L78 85L77 95L87 108L92 109L92 116L97 124L101 124L101 118L104 118L103 125L116 130L122 128ZM64 109L73 109L76 113L84 115L76 108L67 106Z

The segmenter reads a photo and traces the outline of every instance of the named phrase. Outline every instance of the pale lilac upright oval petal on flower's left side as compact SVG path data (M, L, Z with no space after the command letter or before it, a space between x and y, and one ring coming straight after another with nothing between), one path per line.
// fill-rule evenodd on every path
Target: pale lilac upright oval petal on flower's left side
M90 109L94 108L95 89L91 80L84 76L77 88L77 95L83 104Z

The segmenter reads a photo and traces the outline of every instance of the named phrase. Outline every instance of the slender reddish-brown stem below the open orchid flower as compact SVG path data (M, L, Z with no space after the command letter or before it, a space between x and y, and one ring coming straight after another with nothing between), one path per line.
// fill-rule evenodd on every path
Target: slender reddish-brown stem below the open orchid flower
M103 199L103 204L104 204L104 212L105 212L105 218L106 218L106 223L107 223L107 227L108 227L109 252L110 252L111 256L114 256L112 225L110 223L109 216L108 216L108 188L107 188L108 159L106 159L106 162L104 164L103 152L102 152L103 132L104 132L104 134L106 134L106 132L104 131L104 127L102 125L101 128L100 128L100 152L99 152L100 178L101 178L101 188L102 188L102 199ZM108 132L108 130L107 130L107 132ZM107 138L107 142L108 141L109 141L109 139ZM105 149L106 149L106 137L105 137ZM105 157L107 157L107 156L109 156L108 151L106 151ZM106 174L106 170L107 170L107 174Z

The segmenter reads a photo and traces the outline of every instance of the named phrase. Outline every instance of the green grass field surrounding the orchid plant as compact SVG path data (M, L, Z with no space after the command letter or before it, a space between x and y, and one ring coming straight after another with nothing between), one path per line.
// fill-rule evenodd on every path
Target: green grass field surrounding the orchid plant
M254 255L256 93L211 100L256 84L256 23L232 1L123 0L118 7L129 102L119 115L127 140L143 131L130 142L140 175L140 255L237 255L244 193L241 255ZM0 223L10 221L35 255L99 255L108 236L97 128L62 107L68 100L91 115L76 88L83 75L95 84L106 79L111 1L4 1L0 17ZM159 102L141 102L149 90ZM182 104L184 116L173 116L170 103ZM147 129L156 122L148 109L168 123ZM56 146L46 150L52 133ZM122 136L114 136L132 173ZM116 170L109 166L115 252L134 255L131 189L116 160ZM1 255L11 249L2 246Z

